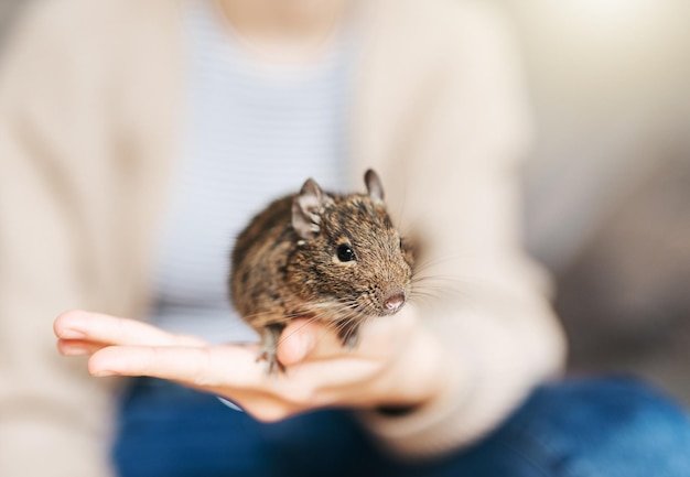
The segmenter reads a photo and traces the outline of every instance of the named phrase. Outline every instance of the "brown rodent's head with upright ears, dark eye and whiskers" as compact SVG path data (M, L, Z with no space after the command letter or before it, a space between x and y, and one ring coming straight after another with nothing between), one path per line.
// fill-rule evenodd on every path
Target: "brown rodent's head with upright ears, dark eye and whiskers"
M310 178L292 203L300 240L288 281L326 319L389 315L410 295L411 253L388 216L378 175L367 171L365 183L367 194L332 196Z

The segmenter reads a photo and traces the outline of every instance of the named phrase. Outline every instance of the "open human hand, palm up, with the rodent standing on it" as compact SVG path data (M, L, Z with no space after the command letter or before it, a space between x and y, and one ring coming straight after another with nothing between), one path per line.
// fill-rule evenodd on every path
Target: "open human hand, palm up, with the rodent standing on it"
M441 392L441 348L411 306L373 319L347 350L324 324L292 321L278 358L285 372L269 376L257 345L212 346L196 337L110 315L71 311L54 323L58 349L90 355L94 376L169 379L237 403L263 421L324 406L423 404Z

